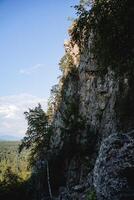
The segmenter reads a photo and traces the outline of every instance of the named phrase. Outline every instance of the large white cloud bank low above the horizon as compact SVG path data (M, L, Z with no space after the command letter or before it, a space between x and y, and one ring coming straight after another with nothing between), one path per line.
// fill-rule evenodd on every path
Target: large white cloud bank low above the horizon
M0 135L24 135L26 121L23 113L38 103L46 110L47 101L44 98L30 94L0 96Z

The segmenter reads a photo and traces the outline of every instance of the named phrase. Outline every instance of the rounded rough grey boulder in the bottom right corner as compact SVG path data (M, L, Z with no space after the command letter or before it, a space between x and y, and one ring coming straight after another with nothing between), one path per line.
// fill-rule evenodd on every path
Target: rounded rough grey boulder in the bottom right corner
M102 142L94 168L99 200L134 199L134 131L113 134Z

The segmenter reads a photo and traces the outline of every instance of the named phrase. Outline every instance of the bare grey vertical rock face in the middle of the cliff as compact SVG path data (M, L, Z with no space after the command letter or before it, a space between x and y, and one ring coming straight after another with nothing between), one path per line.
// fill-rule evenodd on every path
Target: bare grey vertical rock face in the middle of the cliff
M119 83L112 70L100 75L91 63L90 52L87 52L79 66L80 112L92 129L106 137L117 131L115 105Z

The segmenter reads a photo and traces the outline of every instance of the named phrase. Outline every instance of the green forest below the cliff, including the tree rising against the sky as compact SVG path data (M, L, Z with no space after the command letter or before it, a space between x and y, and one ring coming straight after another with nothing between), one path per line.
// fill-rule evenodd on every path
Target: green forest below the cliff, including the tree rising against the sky
M35 199L48 197L44 146L49 144L51 128L48 116L37 105L25 112L26 136L18 142L0 142L0 199ZM48 135L48 136L47 136ZM45 189L45 190L44 190Z

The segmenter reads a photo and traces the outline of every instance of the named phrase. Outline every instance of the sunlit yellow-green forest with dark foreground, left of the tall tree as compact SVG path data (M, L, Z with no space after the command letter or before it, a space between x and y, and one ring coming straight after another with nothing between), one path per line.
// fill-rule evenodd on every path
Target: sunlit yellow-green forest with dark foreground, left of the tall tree
M0 142L0 199L27 199L28 151L18 156L20 142Z

